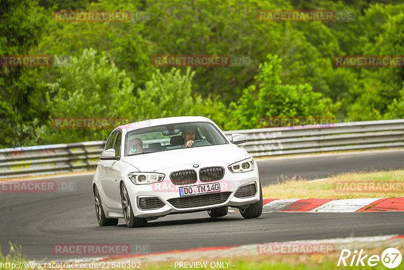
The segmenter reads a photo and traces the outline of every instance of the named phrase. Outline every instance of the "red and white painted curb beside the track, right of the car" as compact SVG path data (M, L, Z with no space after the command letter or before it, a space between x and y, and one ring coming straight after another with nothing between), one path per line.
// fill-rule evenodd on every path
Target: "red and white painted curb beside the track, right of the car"
M264 199L263 213L404 211L404 197L363 199ZM230 208L230 212L238 212Z

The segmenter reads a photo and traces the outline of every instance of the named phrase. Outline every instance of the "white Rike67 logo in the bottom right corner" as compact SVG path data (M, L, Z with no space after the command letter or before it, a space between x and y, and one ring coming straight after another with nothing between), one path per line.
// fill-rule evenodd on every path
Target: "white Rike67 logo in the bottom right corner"
M341 255L339 255L337 266L376 266L380 261L387 268L395 268L401 263L401 253L398 249L387 248L383 251L381 257L379 255L369 255L363 254L363 249L358 253L358 250L351 252L349 249L342 249Z

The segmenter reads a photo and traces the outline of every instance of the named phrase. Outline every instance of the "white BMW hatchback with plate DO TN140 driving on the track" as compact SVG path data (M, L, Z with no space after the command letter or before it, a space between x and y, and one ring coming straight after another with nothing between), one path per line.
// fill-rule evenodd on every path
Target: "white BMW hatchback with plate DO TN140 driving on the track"
M208 211L225 216L228 207L244 218L262 213L257 163L229 141L209 118L150 119L115 128L92 181L99 226L142 227L168 214Z

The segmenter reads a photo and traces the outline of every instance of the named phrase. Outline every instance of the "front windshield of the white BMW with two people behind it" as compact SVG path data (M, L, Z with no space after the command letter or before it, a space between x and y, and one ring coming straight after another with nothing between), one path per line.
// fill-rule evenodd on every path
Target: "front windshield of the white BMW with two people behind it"
M167 124L128 132L125 156L227 143L222 133L211 123Z

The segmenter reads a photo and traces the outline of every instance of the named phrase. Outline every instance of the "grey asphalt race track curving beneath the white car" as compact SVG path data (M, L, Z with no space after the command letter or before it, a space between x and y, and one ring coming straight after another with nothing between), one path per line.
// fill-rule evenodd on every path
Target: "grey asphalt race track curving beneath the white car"
M350 170L402 168L404 151L355 153L327 157L259 161L261 182L281 174L309 179ZM80 256L53 254L53 245L121 243L147 252L231 246L349 236L404 235L404 212L377 213L264 213L243 219L230 213L211 219L207 212L169 215L149 221L145 228L99 227L91 192L91 175L54 178L57 186L70 183L74 191L0 193L0 245L22 246L28 259L66 260ZM85 256L86 257L86 256ZM99 257L99 256L98 256Z

